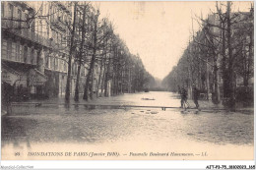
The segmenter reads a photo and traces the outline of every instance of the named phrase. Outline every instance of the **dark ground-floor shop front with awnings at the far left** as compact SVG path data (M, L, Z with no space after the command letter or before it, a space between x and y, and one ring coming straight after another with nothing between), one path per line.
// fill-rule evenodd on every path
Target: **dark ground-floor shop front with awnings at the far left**
M1 72L2 104L41 98L44 95L47 77L36 69L12 67L2 62Z

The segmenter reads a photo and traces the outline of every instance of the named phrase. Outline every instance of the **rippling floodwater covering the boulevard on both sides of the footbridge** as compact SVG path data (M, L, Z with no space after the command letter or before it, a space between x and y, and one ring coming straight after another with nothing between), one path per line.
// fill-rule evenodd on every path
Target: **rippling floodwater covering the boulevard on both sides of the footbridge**
M179 106L170 93L152 92L108 98L108 103ZM141 98L156 100L141 100ZM103 103L107 104L105 98ZM99 101L96 101L99 103ZM100 101L102 102L102 101ZM253 145L253 114L180 109L90 109L85 106L61 111L2 117L2 146L26 142L120 142L177 143L179 140Z

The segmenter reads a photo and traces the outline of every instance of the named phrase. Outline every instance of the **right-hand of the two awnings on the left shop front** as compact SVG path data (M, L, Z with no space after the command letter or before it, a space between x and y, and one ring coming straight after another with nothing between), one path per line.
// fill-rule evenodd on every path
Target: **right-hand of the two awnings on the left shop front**
M47 81L47 76L42 74L36 69L30 70L30 85L44 85L44 83Z

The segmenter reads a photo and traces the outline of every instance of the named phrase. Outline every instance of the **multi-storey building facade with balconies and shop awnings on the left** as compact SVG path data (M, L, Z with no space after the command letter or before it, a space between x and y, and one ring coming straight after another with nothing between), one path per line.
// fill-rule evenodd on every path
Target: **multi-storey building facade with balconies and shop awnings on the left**
M65 95L70 43L68 27L73 20L73 10L70 2L1 3L2 91L12 89L3 96L23 100ZM71 74L71 93L74 93L77 75L74 60ZM83 65L81 92L86 74Z

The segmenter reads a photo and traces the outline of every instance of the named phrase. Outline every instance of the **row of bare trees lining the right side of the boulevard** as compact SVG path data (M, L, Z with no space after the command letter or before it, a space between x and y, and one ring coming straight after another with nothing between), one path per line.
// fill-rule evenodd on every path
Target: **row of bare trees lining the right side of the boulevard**
M226 5L218 2L216 8L217 13L210 14L208 19L199 18L201 30L196 35L193 34L193 40L182 55L177 69L164 82L182 85L191 82L191 79L193 82L200 82L200 77L206 77L207 90L209 92L209 88L214 89L214 102L219 103L222 76L223 96L228 98L228 106L234 110L237 73L243 76L245 86L253 75L253 9L249 13L232 13L231 2ZM198 67L200 63L202 67ZM208 70L212 70L213 74ZM209 85L209 82L213 85ZM173 86L171 88L175 89Z

